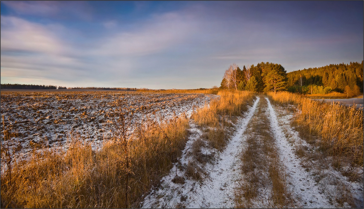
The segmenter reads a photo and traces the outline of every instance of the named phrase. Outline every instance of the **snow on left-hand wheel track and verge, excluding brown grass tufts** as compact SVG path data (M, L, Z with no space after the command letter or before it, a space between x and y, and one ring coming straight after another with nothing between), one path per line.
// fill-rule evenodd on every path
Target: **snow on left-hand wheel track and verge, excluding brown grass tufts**
M201 131L195 127L191 130L193 136L189 138L180 162L175 163L170 174L162 178L161 188L153 190L143 202L144 208L233 208L234 186L239 179L239 157L237 154L242 149L242 133L254 114L259 98L254 102L244 118L239 117L237 132L226 145L226 149L219 154L217 161L206 163L203 167L205 178L201 181L184 179L174 183L176 176L183 177L184 169L178 165L188 164L191 159L189 150L193 142L201 135ZM207 150L207 152L216 150Z

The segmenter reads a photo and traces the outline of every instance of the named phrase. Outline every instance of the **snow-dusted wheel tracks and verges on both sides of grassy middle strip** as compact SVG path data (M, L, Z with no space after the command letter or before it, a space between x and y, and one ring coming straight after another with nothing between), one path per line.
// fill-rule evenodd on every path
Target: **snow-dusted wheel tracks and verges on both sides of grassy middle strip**
M264 100L266 102L262 103ZM259 107L259 113L258 108ZM343 176L345 167L334 169L328 162L329 157L321 156L316 147L302 140L292 123L293 112L279 106L272 106L270 100L257 97L254 104L243 117L235 123L233 136L225 150L219 152L205 142L201 152L211 156L206 163L198 163L193 156L193 143L199 140L203 130L193 121L190 124L193 133L186 144L179 162L175 163L169 175L163 177L161 185L148 194L141 206L143 208L235 208L237 200L243 198L237 193L246 174L241 172L244 162L241 155L247 147L247 138L257 136L252 133L253 123L258 114L269 118L270 133L275 139L280 161L283 163L283 178L287 190L286 205L277 205L273 196L272 180L267 169L257 170L261 181L257 185L257 195L249 199L251 208L294 207L294 208L363 208L363 167L357 172L360 178L354 182ZM254 132L254 131L253 131ZM306 150L316 157L299 155L297 150ZM297 154L298 153L298 154ZM320 157L317 157L319 156ZM258 156L251 156L256 158ZM263 156L264 157L264 156ZM265 159L265 158L264 158ZM199 178L191 178L187 173L189 165L195 165ZM246 206L246 205L245 205Z

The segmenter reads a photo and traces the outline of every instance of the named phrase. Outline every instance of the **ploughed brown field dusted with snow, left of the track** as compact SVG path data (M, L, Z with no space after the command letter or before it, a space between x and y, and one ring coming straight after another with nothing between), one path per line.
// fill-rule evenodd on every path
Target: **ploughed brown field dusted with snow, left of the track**
M128 113L132 129L147 117L166 120L181 113L189 117L216 98L218 95L133 91L1 92L1 145L5 125L5 129L12 127L11 150L19 154L34 147L67 147L67 140L75 136L96 149L112 136L119 109Z

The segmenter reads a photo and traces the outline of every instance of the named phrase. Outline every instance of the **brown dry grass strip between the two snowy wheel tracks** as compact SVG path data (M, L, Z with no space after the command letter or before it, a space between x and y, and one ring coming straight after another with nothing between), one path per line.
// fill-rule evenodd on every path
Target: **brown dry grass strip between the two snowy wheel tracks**
M266 207L293 207L293 199L287 190L284 165L280 161L275 139L270 130L267 117L267 102L260 99L252 121L245 132L246 147L241 155L241 172L244 179L235 189L237 208L252 208L254 202L260 202L258 190L272 187L272 194L264 205Z

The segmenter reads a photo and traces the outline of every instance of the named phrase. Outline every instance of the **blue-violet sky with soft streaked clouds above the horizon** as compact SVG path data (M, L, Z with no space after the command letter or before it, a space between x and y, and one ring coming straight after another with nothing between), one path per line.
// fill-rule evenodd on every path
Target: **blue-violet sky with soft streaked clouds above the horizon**
M363 1L1 1L1 83L191 89L363 60Z

